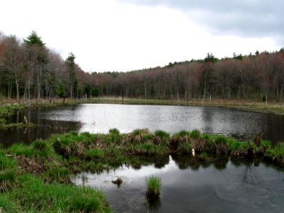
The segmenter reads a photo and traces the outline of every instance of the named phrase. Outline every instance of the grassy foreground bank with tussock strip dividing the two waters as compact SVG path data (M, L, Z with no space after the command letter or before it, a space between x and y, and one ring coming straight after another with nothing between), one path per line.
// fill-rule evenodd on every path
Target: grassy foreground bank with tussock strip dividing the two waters
M72 131L31 145L13 143L0 150L0 208L4 212L111 212L104 192L84 185L84 173L109 173L125 166L138 170L151 163L164 168L170 160L192 170L209 165L219 170L228 161L235 165L266 163L282 170L284 143L272 146L258 137L241 142L198 130L170 136L148 129L131 133L110 129L106 134ZM82 184L76 186L80 175ZM123 181L120 177L112 180L118 187ZM159 181L163 187L163 178ZM145 197L146 190L145 186ZM147 205L155 212L157 203L148 200Z

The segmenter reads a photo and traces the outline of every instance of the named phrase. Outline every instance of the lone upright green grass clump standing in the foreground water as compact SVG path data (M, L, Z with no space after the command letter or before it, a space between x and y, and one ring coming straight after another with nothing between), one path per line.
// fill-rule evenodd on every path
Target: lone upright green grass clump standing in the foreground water
M150 177L146 177L145 181L147 197L158 197L160 195L160 188L162 187L162 179L151 175Z

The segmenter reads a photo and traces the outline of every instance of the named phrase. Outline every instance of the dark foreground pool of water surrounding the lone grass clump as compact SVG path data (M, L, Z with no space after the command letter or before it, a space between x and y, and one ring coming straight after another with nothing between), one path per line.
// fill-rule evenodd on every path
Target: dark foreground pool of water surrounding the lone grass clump
M162 162L161 162L162 161ZM162 179L160 198L146 198L145 178ZM123 180L118 187L111 180ZM81 173L77 185L102 189L115 212L283 212L284 171L260 163L170 155L141 167L121 165L99 174Z

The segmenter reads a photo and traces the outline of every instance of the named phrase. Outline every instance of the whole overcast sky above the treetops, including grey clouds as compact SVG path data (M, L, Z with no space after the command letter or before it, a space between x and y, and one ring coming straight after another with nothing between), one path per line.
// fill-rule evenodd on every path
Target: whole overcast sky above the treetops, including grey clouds
M86 72L284 47L283 0L0 0L0 31L40 35Z

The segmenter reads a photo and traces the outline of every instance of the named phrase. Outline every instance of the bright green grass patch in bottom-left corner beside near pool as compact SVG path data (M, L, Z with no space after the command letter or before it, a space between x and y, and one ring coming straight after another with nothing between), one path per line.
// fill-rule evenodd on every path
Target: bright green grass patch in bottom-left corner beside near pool
M16 206L19 212L111 212L99 190L46 183L29 174L21 175L18 182L18 187L0 200L4 211Z

